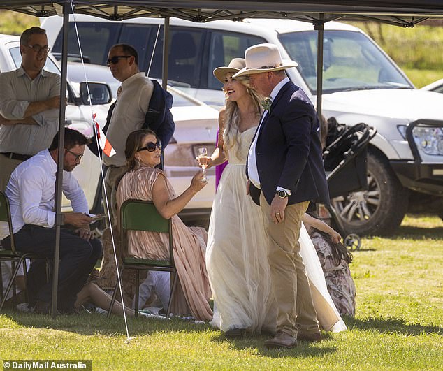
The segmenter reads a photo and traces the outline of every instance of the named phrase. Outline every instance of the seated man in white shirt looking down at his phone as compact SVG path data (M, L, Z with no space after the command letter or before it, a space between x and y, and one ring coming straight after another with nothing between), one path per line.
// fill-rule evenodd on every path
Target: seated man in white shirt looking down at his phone
M55 251L55 175L57 173L57 133L48 150L38 152L20 163L13 171L6 195L9 198L15 247L20 252L33 252L54 257ZM65 129L63 193L71 201L73 213L64 214L64 224L76 229L62 229L60 233L60 265L57 309L75 312L78 291L85 284L89 272L101 256L101 242L92 238L87 215L89 208L80 185L71 173L85 151L88 140L82 133ZM10 249L7 226L0 225L1 245ZM52 282L45 282L44 261L35 261L29 270L29 304L34 313L49 313L52 300Z

